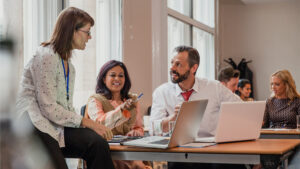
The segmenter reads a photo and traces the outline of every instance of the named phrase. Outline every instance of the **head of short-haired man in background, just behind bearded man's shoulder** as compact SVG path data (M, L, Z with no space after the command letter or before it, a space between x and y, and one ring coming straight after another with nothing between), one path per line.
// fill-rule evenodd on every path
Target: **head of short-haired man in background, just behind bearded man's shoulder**
M232 67L225 67L218 74L218 80L233 93L238 89L239 77L240 71Z

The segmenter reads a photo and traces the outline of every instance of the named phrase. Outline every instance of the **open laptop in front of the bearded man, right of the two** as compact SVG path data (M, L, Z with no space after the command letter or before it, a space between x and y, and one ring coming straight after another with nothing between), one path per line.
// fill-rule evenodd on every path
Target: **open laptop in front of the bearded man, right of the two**
M222 103L215 137L196 138L195 142L222 143L258 139L265 106L265 101Z

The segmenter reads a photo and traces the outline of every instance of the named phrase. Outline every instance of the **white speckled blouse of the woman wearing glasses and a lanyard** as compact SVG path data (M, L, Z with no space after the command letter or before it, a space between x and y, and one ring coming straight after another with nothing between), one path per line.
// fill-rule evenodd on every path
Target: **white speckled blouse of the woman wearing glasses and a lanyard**
M69 100L61 58L52 47L40 46L26 65L19 94L17 112L28 113L33 125L65 146L64 127L79 127L82 116L73 108L75 69L69 62Z

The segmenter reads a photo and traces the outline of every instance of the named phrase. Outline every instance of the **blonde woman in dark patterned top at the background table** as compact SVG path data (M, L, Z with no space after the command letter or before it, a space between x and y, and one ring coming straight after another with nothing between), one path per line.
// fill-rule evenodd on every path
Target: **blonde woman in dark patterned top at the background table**
M296 115L300 114L300 95L288 70L271 76L272 96L267 100L263 127L296 128Z

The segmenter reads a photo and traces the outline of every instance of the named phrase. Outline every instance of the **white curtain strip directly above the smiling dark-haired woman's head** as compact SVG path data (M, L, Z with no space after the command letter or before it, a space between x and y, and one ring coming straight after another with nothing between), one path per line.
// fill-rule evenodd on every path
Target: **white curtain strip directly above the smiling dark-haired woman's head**
M108 60L122 61L122 0L96 1L96 69Z

